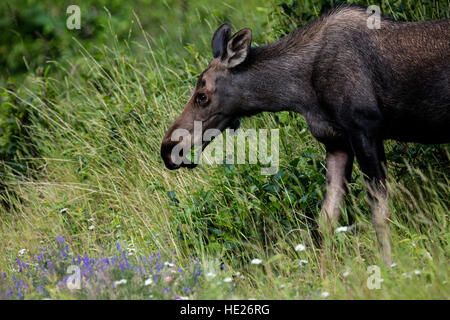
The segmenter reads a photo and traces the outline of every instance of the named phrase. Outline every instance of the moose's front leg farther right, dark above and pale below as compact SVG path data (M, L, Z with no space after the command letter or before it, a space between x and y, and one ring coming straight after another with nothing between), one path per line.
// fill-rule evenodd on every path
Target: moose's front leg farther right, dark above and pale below
M359 132L351 137L352 148L369 190L372 222L380 245L381 257L390 266L391 243L389 232L389 203L386 188L386 156L383 141Z

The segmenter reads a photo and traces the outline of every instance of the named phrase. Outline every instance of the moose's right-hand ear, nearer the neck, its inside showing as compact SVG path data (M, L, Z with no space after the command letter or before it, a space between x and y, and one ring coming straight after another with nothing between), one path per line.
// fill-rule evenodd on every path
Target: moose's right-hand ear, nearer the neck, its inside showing
M236 32L227 43L227 55L222 63L227 68L234 68L244 62L252 42L252 30L245 28Z

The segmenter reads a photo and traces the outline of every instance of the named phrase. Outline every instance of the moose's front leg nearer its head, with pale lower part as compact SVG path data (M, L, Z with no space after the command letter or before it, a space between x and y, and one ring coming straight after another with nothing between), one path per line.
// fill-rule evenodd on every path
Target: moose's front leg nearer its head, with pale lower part
M327 149L326 193L320 216L324 228L333 230L341 215L341 204L352 176L353 151L348 147Z

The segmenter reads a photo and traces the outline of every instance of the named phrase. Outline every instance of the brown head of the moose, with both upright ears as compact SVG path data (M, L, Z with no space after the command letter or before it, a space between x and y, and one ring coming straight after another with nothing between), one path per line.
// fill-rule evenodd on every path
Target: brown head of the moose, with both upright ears
M227 23L214 33L211 41L214 58L200 74L184 110L167 130L161 157L168 169L195 167L196 164L187 157L187 150L194 146L203 150L214 138L211 136L204 141L207 130L214 129L217 135L226 128L236 129L239 119L244 116L245 96L239 90L239 81L233 80L235 70L249 56L252 31L245 28L230 35ZM200 130L194 130L196 124L201 124Z

